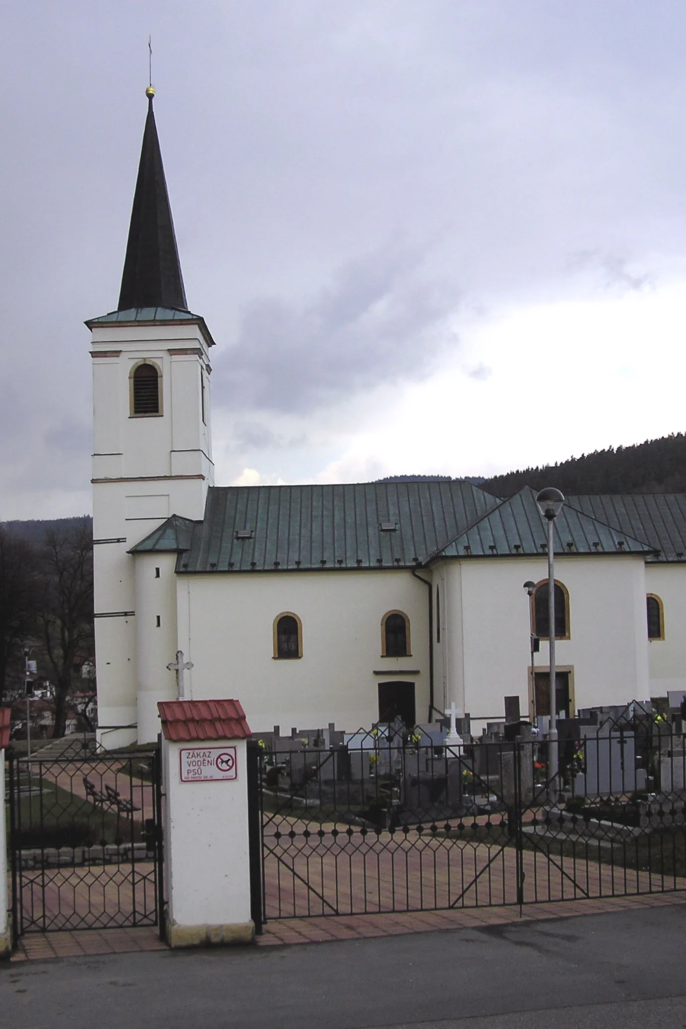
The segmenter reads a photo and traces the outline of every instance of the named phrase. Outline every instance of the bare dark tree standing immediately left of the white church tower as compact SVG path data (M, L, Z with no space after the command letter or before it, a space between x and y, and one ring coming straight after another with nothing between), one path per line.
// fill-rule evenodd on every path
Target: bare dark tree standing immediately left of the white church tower
M55 683L53 736L64 736L67 697L78 653L93 649L93 530L79 519L47 533L41 555L39 620Z

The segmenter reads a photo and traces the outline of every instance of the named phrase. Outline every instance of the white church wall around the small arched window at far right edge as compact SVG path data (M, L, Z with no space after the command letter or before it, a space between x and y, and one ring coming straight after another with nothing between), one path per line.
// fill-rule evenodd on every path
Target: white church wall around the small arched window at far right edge
M686 690L686 566L646 565L646 593L662 601L664 622L664 639L648 641L650 696L666 697L671 689Z

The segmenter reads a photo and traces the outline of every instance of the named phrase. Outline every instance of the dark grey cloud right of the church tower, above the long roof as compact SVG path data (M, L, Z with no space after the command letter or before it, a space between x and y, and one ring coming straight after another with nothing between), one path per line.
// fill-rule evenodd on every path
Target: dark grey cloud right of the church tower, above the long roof
M216 362L214 396L244 410L303 413L423 378L455 345L446 318L457 304L457 290L423 275L420 251L389 246L367 254L300 304L254 300L238 343Z

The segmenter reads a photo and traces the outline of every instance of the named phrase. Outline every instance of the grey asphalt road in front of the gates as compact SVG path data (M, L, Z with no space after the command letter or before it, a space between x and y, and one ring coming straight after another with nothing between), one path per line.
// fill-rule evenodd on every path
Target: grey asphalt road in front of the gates
M672 1029L686 903L377 939L6 964L2 1029Z

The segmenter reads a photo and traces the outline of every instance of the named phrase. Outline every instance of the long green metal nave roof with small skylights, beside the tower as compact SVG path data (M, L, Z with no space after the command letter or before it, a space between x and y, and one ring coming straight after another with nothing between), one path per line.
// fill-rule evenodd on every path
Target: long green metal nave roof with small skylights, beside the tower
M214 487L177 571L413 567L497 503L459 481Z

